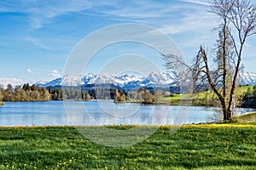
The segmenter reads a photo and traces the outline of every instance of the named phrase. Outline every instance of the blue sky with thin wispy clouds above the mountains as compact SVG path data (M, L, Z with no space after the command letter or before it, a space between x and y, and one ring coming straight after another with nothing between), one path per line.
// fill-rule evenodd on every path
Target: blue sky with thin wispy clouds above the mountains
M203 0L0 1L0 83L38 82L62 75L77 43L105 26L136 23L162 31L176 42L185 59L192 59L201 44L212 47L218 18L207 13ZM244 51L245 71L256 71L250 37ZM147 56L165 71L160 54L136 43L119 43L96 54L84 74L96 73L108 60L122 54Z

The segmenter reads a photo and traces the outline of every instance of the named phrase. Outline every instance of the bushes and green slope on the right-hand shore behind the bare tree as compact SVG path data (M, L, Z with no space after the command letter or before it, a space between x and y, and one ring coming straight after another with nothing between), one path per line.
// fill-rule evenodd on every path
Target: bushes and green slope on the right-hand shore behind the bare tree
M245 86L237 88L237 107L256 108L256 86ZM142 103L151 105L196 105L196 106L219 106L216 94L207 90L195 94L170 94L168 92L139 89L125 93L115 91L114 101L116 103Z

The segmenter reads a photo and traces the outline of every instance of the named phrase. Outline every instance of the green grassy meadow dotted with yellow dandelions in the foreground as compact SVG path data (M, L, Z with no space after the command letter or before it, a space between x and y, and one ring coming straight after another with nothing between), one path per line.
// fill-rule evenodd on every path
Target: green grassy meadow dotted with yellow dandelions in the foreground
M110 148L84 139L74 127L0 127L0 168L256 169L255 123L187 125L174 134L170 129Z

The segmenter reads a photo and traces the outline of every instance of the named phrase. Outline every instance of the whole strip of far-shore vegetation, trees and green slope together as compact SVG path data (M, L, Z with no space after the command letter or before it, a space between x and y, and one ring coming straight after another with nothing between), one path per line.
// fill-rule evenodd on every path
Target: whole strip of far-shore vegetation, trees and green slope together
M109 94L110 93L110 94ZM238 88L240 100L238 107L256 108L256 86ZM92 96L92 97L91 97ZM35 85L24 84L22 87L13 88L10 84L6 89L0 88L1 101L48 101L48 100L90 100L114 99L116 103L141 103L148 105L196 105L219 106L218 97L210 90L201 93L171 94L170 92L156 92L140 88L125 91L123 89L95 89L85 92L77 88L38 88Z

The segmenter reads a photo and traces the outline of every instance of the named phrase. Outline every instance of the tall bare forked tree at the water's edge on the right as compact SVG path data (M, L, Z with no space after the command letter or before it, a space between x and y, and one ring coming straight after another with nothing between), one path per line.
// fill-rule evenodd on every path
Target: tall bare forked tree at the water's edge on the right
M205 86L207 82L218 96L224 120L230 121L236 105L236 82L243 48L247 37L256 33L256 8L250 0L213 0L210 12L220 19L217 53L208 54L201 46L192 65L178 56L163 55L167 68L183 66L190 71L195 87ZM212 58L217 61L215 65L210 65Z

